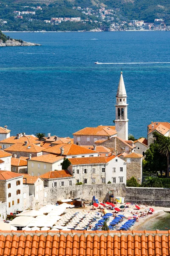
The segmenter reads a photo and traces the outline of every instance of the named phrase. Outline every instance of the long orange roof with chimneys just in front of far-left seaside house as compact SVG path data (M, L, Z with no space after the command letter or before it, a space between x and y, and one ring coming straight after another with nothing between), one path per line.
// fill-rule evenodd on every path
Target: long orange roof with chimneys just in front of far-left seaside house
M40 141L37 141L37 137L33 137L31 135L24 135L21 136L19 139L17 139L16 136L11 136L5 140L1 140L0 143L9 143L9 144L15 144L15 143L24 143L25 141L28 141L28 143L34 143L34 144L40 144Z

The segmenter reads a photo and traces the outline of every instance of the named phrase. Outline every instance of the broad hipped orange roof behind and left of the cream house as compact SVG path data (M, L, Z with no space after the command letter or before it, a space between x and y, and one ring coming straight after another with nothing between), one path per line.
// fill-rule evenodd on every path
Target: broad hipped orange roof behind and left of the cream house
M28 143L27 145L22 143L16 143L6 148L5 151L9 152L28 152L28 153L38 153L41 152L44 148L35 145L34 143Z

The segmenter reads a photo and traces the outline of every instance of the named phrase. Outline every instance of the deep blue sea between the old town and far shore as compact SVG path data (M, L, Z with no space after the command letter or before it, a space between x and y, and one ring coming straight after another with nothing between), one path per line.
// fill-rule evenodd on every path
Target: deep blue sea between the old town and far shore
M0 47L0 126L71 136L113 125L123 71L129 133L147 136L151 121L170 122L170 32L8 32L40 47ZM95 40L94 40L95 39Z

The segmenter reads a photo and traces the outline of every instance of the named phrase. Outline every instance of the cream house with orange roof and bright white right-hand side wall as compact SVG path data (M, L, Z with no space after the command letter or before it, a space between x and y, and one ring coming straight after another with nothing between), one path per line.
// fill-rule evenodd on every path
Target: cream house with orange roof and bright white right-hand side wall
M55 154L45 154L40 157L28 159L28 174L31 176L40 176L46 172L61 170L61 163L64 157Z

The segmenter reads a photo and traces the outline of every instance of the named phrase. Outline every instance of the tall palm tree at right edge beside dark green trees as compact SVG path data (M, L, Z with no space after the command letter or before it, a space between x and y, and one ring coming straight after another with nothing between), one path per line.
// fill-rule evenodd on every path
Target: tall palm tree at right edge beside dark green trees
M160 153L167 156L167 171L165 177L170 177L170 137L163 137L159 142Z

